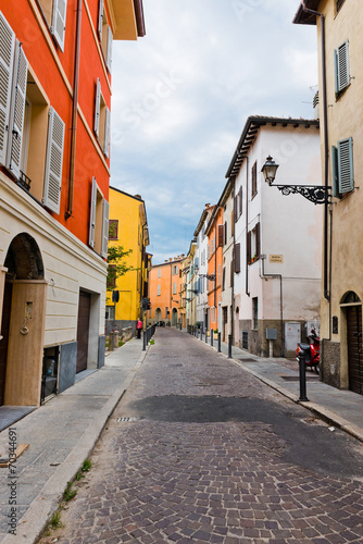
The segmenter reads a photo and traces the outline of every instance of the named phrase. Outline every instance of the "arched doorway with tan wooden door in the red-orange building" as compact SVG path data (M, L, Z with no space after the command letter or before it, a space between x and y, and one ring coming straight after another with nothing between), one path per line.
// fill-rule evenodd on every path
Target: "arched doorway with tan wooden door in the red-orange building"
M47 283L39 247L29 234L13 238L3 274L0 406L38 406Z

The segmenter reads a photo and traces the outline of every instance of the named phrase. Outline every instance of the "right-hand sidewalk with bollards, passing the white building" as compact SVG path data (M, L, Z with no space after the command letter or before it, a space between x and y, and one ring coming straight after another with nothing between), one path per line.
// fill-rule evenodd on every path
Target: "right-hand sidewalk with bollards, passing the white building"
M186 331L184 331L186 332ZM196 338L196 342L205 342ZM217 350L217 342L211 347ZM228 345L221 343L222 355L228 357ZM331 387L318 380L318 376L306 371L306 396L309 401L299 401L299 364L284 358L262 358L240 349L231 348L231 361L256 376L274 390L299 403L331 425L337 426L363 442L363 395L351 391Z

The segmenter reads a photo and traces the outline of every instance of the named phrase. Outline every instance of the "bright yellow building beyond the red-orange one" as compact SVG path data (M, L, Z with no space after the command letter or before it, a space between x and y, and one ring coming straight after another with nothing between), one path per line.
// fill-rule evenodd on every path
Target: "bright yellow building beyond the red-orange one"
M148 297L148 273L151 256L147 252L149 230L145 201L110 187L109 247L122 246L130 255L122 259L132 268L111 280L107 290L107 332L125 326L136 329L142 319L141 301ZM112 263L111 263L112 265Z

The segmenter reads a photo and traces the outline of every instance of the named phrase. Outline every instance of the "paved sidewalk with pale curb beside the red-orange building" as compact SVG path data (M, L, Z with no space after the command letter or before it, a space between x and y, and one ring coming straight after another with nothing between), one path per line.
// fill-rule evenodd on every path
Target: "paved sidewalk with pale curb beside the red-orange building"
M30 544L39 535L57 509L66 483L75 478L97 444L146 354L142 341L130 339L111 351L99 371L11 426L17 444L29 447L13 466L15 472L0 468L1 544ZM9 452L9 429L0 433L1 452ZM16 536L8 534L11 494L16 505Z

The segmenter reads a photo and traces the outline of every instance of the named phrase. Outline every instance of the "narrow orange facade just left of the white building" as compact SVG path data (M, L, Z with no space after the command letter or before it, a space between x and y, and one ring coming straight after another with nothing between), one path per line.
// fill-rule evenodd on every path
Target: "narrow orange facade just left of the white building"
M223 208L216 206L206 225L209 329L220 331L223 287Z

